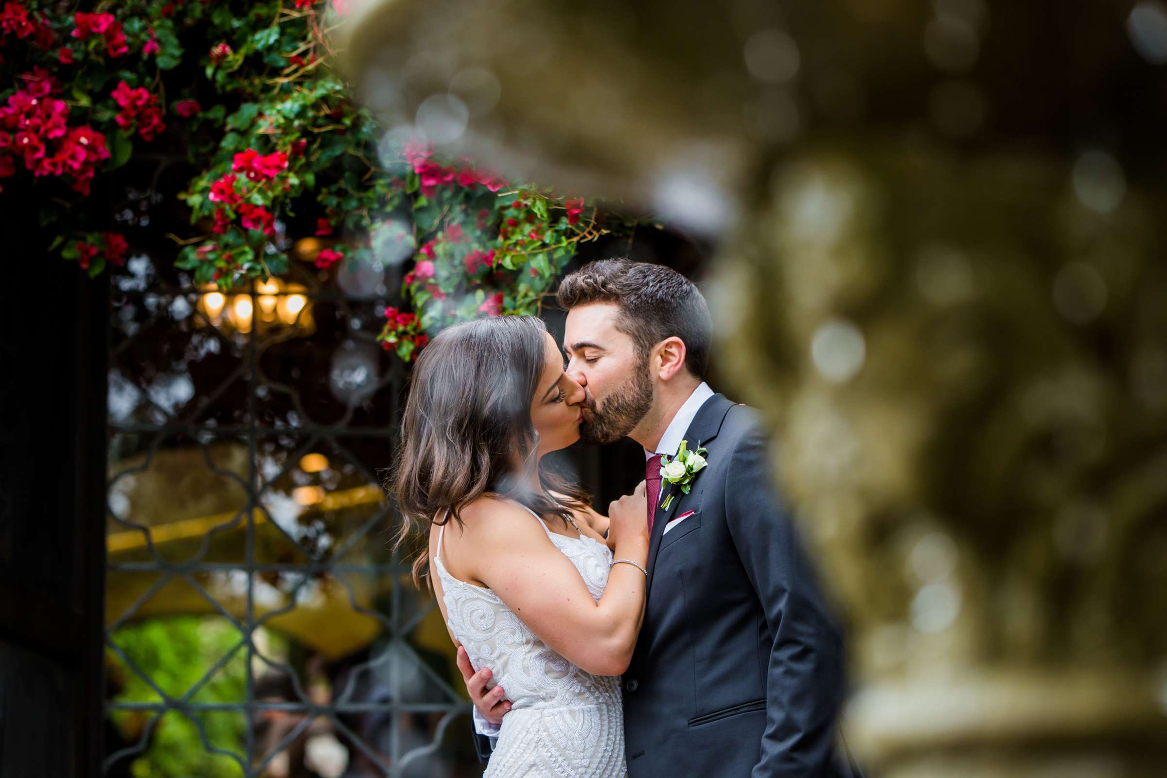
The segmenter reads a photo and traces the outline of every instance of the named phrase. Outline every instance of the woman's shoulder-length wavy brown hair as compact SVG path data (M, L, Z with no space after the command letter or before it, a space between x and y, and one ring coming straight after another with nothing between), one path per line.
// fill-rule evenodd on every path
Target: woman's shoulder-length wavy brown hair
M567 520L591 505L589 495L536 458L531 401L546 365L546 331L533 316L480 318L443 330L421 351L391 476L401 514L394 551L433 526L464 526L461 511L483 496L517 500L544 519ZM534 471L539 491L527 486ZM419 588L428 565L424 545L413 562Z

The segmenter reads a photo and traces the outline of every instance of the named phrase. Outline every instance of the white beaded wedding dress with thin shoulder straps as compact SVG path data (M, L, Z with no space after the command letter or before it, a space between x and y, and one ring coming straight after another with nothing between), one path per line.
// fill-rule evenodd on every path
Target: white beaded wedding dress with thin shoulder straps
M608 547L582 534L555 534L543 519L539 524L599 600L612 568ZM584 672L548 649L494 591L450 575L441 561L445 528L438 531L433 567L447 624L475 670L489 667L491 686L501 684L512 705L483 778L626 776L620 678Z

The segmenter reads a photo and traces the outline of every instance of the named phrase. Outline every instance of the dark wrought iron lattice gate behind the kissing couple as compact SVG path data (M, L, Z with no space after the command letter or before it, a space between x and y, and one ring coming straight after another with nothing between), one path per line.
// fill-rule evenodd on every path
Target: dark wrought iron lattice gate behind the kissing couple
M229 295L145 257L128 271L111 286L106 775L478 775L440 615L390 549L404 372L375 337L392 268Z

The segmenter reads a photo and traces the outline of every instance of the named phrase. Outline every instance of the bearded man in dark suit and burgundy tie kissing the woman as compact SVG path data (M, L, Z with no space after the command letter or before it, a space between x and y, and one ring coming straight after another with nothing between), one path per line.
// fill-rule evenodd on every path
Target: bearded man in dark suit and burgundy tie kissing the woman
M843 775L843 645L771 482L753 411L704 383L705 300L661 265L608 259L564 279L568 374L587 391L580 434L644 447L650 527L644 625L623 677L631 778ZM707 449L686 495L662 474ZM478 731L509 703L459 664ZM484 740L484 738L481 738Z

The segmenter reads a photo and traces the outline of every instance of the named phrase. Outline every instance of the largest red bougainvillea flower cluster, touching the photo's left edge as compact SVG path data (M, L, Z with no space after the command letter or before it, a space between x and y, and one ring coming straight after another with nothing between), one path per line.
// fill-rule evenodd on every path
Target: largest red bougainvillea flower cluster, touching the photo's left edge
M88 195L97 164L110 159L105 135L89 125L68 126L69 105L51 97L58 87L48 71L36 68L21 78L28 85L0 106L0 178L15 175L13 154L20 154L34 176L68 177Z

